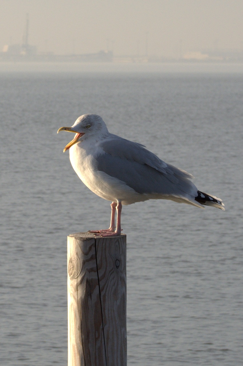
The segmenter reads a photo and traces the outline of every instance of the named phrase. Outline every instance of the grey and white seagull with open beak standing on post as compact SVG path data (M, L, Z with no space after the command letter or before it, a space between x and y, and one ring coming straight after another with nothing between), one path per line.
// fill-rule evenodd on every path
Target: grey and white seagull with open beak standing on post
M148 199L169 199L224 210L220 198L197 189L190 180L194 178L191 174L166 164L144 145L109 133L98 115L82 115L72 127L61 127L57 133L60 131L75 133L63 152L69 150L79 178L92 192L112 201L109 228L90 231L94 234L120 235L122 205Z

